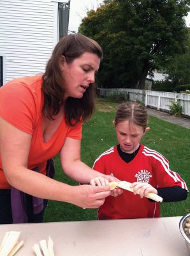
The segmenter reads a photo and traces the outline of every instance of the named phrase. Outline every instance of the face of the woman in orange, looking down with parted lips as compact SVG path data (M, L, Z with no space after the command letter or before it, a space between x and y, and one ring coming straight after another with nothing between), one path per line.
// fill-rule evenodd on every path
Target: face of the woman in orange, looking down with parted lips
M62 56L60 67L64 79L64 99L82 98L89 84L94 83L99 64L99 57L92 52L84 52L71 63L67 63Z

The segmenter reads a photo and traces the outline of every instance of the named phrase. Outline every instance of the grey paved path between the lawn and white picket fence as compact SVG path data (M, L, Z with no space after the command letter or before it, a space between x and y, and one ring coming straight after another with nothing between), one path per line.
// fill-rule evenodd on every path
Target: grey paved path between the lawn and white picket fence
M175 117L168 113L158 111L157 109L147 108L147 113L150 116L156 116L157 118L163 119L164 121L170 122L172 124L177 124L187 129L190 129L190 120L183 117Z

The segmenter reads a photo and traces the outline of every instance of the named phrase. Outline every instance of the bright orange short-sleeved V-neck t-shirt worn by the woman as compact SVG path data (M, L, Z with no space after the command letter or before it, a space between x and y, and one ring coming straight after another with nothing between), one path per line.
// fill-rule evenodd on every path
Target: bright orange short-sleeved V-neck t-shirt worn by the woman
M0 88L0 116L21 131L32 134L28 157L28 168L40 168L46 174L47 160L56 156L62 148L66 137L80 140L82 124L73 127L66 124L64 117L53 134L45 143L42 134L43 91L42 75L14 79ZM0 189L9 189L2 169L0 156Z

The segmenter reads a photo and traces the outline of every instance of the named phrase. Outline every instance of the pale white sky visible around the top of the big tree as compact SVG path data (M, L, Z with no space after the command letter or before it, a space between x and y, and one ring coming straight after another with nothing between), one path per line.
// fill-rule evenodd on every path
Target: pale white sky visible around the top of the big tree
M103 0L71 0L69 12L69 31L78 31L81 20L86 16L87 10L96 10ZM186 24L190 26L190 12L186 17Z

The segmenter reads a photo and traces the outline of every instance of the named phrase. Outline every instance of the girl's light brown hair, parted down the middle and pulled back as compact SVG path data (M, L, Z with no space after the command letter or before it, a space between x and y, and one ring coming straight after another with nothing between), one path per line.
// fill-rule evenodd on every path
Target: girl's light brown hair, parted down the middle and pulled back
M148 124L147 111L144 106L136 102L126 102L122 103L116 111L115 114L115 126L119 122L129 120L130 123L143 127L143 132Z

